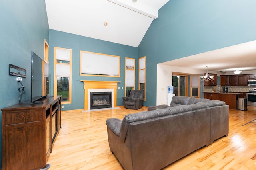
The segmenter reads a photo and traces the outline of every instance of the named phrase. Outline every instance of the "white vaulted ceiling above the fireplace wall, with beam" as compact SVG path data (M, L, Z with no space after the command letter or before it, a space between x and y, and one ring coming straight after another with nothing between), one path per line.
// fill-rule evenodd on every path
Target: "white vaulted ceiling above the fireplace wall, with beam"
M133 1L45 0L50 29L138 47L169 0Z

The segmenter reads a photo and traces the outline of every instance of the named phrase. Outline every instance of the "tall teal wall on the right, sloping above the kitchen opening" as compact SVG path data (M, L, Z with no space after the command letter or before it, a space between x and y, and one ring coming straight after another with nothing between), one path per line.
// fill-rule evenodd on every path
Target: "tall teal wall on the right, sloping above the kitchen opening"
M156 104L157 63L256 40L255 9L256 0L167 2L138 47L146 56L144 106Z

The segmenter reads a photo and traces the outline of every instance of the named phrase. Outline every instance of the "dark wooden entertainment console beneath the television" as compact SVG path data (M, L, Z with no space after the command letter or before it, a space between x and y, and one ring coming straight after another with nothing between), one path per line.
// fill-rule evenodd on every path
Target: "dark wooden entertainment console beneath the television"
M36 104L1 109L3 170L39 170L46 166L61 128L61 96Z

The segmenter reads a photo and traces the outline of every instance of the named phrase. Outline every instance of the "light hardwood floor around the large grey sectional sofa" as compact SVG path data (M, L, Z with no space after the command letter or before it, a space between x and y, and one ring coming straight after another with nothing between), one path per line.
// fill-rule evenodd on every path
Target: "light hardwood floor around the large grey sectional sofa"
M62 129L47 162L50 170L122 170L108 146L106 120L122 119L140 111L146 108L62 112ZM248 123L254 119L256 106L248 106L248 111L230 109L228 137L196 150L164 170L256 170L256 123Z

